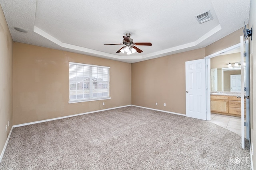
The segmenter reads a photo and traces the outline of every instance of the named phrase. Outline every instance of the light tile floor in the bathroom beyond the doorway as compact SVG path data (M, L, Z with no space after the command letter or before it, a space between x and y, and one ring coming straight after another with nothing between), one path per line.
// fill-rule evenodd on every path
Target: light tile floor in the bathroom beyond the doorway
M211 113L211 122L241 135L241 117ZM246 136L246 127L244 128L244 135Z

